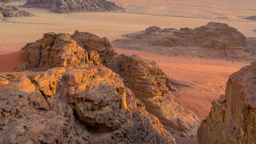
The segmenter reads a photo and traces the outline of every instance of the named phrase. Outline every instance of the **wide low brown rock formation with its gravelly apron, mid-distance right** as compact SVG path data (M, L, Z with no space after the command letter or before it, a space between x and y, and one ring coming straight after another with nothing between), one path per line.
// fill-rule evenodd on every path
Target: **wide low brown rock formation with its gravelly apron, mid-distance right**
M138 45L137 47L140 49L146 46L147 49L151 48L155 51L163 49L163 51L170 51L170 53L175 53L175 49L177 49L177 53L181 53L178 51L179 49L187 48L186 51L190 50L188 54L196 53L196 49L198 49L198 51L205 52L205 55L217 53L221 57L232 59L253 57L252 52L255 51L248 46L246 37L236 28L217 22L210 22L195 29L181 28L180 30L151 26L145 31L124 36L128 39L121 39L114 45L119 47L127 45L128 48ZM172 47L172 49L164 49L164 47ZM203 52L197 53L197 55Z

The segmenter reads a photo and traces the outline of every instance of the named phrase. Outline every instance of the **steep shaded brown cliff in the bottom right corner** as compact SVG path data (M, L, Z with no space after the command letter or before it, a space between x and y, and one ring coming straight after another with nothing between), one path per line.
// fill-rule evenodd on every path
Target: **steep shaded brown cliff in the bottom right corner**
M256 143L255 77L255 62L230 76L225 96L213 101L197 131L199 144Z

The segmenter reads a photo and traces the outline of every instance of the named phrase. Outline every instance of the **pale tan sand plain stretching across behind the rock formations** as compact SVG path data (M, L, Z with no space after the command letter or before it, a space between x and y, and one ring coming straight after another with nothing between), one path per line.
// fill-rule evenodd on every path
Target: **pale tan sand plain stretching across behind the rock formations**
M162 28L181 28L181 27L198 27L206 25L210 21L227 23L230 26L236 27L247 37L254 37L256 33L253 32L256 29L256 21L245 20L246 16L255 14L256 10L249 9L244 10L246 13L243 16L239 16L239 12L232 13L236 15L236 19L231 18L214 18L210 13L204 12L204 7L194 6L198 2L190 2L185 4L172 4L174 1L180 0L113 0L120 6L127 8L127 12L148 13L148 14L136 14L136 13L70 13L70 14L56 14L49 13L43 9L35 8L23 8L20 7L24 2L14 2L11 5L19 7L20 10L27 10L34 13L35 17L20 17L20 18L5 18L0 20L0 54L14 52L20 50L21 47L28 42L40 39L44 33L56 32L56 33L74 33L75 30L82 32L90 32L98 35L99 37L107 37L110 41L121 38L122 34L134 33L144 30L149 26L160 26ZM147 2L145 2L147 1ZM157 1L157 2L156 2ZM186 1L186 0L185 0ZM185 1L181 1L185 3ZM196 1L196 0L192 0ZM220 0L218 0L220 1ZM230 0L228 0L230 1ZM254 0L250 0L254 1ZM234 2L233 2L234 3ZM198 4L199 5L199 4ZM248 4L249 5L249 4ZM254 7L256 4L249 5ZM179 7L177 12L172 12L172 7ZM225 9L228 9L230 5L227 5ZM236 7L243 7L243 5L237 5ZM132 10L131 7L137 10ZM138 8L138 7L147 7ZM155 7L155 11L152 7ZM166 7L162 12L162 8ZM186 10L187 7L194 7L194 10ZM210 7L210 6L209 6ZM217 6L212 6L217 7ZM235 6L234 6L235 7ZM255 6L256 7L256 6ZM217 9L212 9L213 12L217 12ZM230 8L232 9L232 7ZM178 13L189 13L178 15ZM213 13L211 12L211 13ZM248 12L248 13L247 13ZM158 13L165 13L167 15L158 15ZM200 17L198 13L203 13L206 16ZM224 13L224 12L223 12ZM250 14L249 14L250 13ZM155 15L157 14L157 15ZM172 16L170 16L172 15ZM194 15L194 17L191 17ZM185 17L184 17L185 16ZM220 16L223 17L223 16Z

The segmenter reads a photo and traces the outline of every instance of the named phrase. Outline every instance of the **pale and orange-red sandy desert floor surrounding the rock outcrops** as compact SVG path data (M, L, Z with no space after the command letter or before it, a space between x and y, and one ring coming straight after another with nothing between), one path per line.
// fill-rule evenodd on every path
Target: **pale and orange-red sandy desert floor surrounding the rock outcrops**
M112 0L126 8L126 13L70 13L56 14L35 8L22 8L22 2L11 3L35 17L5 18L0 20L0 72L14 71L20 64L21 47L42 38L44 33L90 32L110 41L123 34L135 33L149 26L181 28L206 25L210 21L236 27L246 37L256 37L256 21L245 17L256 15L255 0ZM171 78L195 84L173 93L176 101L194 111L200 119L208 115L211 102L225 91L231 73L248 61L206 59L189 56L162 55L122 49L118 53L137 54L155 60ZM14 52L14 53L10 53ZM5 55L10 53L8 55Z

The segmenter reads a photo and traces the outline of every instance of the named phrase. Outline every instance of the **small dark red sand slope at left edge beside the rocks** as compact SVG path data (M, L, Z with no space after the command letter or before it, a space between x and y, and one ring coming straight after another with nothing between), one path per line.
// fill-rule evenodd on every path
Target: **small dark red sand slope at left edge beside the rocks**
M0 55L0 72L14 72L15 68L21 64L24 56L24 51Z

